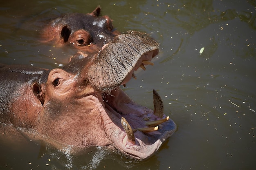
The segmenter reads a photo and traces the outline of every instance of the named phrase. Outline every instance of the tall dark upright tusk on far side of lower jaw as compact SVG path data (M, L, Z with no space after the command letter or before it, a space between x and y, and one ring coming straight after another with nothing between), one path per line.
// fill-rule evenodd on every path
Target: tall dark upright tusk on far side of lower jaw
M155 91L154 89L153 89L153 99L154 99L154 108L155 108L154 115L162 119L164 115L164 104L161 97L159 96L157 91Z

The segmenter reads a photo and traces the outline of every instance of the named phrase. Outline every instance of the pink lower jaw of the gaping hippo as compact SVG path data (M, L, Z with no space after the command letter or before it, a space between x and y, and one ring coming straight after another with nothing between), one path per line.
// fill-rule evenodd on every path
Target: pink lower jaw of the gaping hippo
M105 95L105 110L101 114L106 134L113 141L114 147L127 155L146 159L157 152L162 143L175 132L175 123L166 115L162 118L164 123L153 125L153 130L148 128L148 122L161 118L154 115L153 110L135 104L119 87L111 91L111 95ZM126 121L121 121L124 118ZM132 130L125 130L124 126L130 126Z

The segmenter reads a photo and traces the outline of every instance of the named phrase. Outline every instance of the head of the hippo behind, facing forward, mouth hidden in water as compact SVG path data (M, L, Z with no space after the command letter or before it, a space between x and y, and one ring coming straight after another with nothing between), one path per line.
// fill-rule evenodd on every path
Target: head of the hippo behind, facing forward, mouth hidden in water
M57 45L69 44L85 55L98 52L104 44L120 34L112 20L100 16L101 8L92 13L70 13L52 20L42 31L44 42L55 41Z

